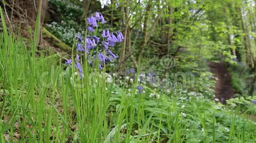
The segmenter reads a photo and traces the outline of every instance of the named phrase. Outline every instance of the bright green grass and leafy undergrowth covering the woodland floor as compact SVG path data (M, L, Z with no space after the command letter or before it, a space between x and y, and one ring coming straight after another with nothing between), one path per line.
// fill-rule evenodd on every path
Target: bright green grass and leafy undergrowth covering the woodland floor
M4 21L2 13L1 18ZM117 77L118 73L105 72L109 64L100 71L100 57L96 56L94 68L87 58L81 62L80 76L81 71L74 65L78 64L75 55L81 54L76 51L77 39L72 67L68 67L58 62L61 57L51 51L39 51L41 56L35 56L37 38L31 38L33 42L26 45L21 36L14 37L7 31L4 22L2 26L1 143L256 140L256 123L247 119L247 111L240 113L240 104L245 102L250 113L255 114L256 97L232 99L227 105L215 102L215 82L203 60L196 62L198 58L181 54L175 66L164 74L166 67L155 57L147 60L149 63L139 63L141 71L129 68L126 75ZM150 62L155 66L148 66ZM192 75L191 79L177 78L184 73Z

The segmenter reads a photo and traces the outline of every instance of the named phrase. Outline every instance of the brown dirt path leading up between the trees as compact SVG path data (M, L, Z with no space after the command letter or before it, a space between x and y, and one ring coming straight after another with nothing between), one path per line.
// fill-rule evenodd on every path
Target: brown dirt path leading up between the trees
M226 100L233 98L234 91L231 87L231 77L227 70L225 62L208 62L212 73L218 80L215 83L215 98L225 104Z

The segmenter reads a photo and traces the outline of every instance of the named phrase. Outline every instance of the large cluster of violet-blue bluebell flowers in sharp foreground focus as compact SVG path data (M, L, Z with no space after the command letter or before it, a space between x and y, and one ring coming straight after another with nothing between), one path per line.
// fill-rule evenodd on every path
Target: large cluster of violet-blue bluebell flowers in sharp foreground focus
M95 14L91 14L89 18L87 18L87 29L89 33L95 32L96 27L98 27L98 23L104 24L106 21L102 14L95 12ZM113 59L116 59L117 56L113 54L113 52L110 50L110 47L115 46L116 43L120 43L123 41L124 36L122 32L109 32L109 29L104 29L101 33L101 37L97 36L86 36L82 37L80 34L76 35L76 38L78 39L77 43L77 51L82 54L87 54L87 61L90 63L90 66L93 67L94 63L93 61L95 59L98 59L99 70L102 70L105 66L106 62L113 61ZM102 40L101 40L102 39ZM95 54L94 56L90 57L90 53L92 50L94 50L95 47L98 47L97 51L101 51L98 54ZM102 50L101 48L102 47ZM79 55L77 55L79 57ZM72 60L66 61L66 64L68 66L72 63ZM79 61L79 58L75 59L75 69L78 69L80 78L82 78L83 70L81 68L81 63Z

